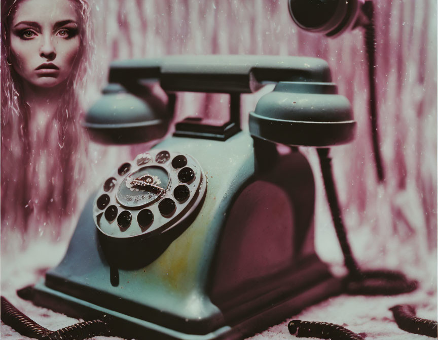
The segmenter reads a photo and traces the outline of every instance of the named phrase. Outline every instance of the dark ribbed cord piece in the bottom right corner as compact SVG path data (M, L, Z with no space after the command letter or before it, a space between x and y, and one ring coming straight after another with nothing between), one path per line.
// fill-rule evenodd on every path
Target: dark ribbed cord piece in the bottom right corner
M410 333L438 337L437 322L417 317L414 306L397 305L389 309L400 329Z

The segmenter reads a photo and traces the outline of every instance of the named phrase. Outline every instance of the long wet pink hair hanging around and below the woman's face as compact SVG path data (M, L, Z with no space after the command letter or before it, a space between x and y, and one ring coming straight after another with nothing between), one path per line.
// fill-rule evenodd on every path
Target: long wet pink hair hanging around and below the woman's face
M31 137L31 108L9 56L9 24L23 1L2 0L1 8L2 232L17 229L25 234L49 225L53 235L59 236L63 219L75 211L76 188L83 179L85 135L79 119L83 111L80 96L94 56L90 6L87 0L69 0L81 19L81 49L56 113L38 128L42 140L37 142Z

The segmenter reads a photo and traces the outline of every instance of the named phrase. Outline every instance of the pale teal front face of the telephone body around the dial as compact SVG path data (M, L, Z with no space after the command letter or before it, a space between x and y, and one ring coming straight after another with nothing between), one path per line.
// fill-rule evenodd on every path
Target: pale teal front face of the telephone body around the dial
M221 311L207 296L206 284L217 235L226 221L231 201L240 186L254 174L252 139L245 133L226 142L173 137L156 147L190 152L208 177L207 197L192 225L149 266L139 270L119 269L120 284L115 287L109 281L109 265L98 251L95 226L88 216L91 211L85 211L63 262L49 271L47 284L59 286L67 279L90 292L98 291L101 299L98 295L94 297L103 304L117 305L116 300L121 298L133 306L160 311L158 314L162 313L163 319L169 314L173 319L179 317L175 322L182 324L183 321L200 324L206 320L210 326L223 324ZM91 209L90 206L87 209ZM84 249L87 249L86 254ZM129 315L129 310L125 312Z

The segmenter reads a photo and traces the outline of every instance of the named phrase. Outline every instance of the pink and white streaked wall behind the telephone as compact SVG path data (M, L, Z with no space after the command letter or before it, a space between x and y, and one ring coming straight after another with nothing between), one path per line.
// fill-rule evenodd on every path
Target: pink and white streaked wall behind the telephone
M436 249L436 12L434 0L375 0L378 109L386 181L378 185L368 119L368 79L363 32L329 39L301 31L290 19L285 0L90 0L96 19L98 65L113 59L167 54L265 54L325 59L339 93L352 103L358 123L349 145L333 150L335 176L344 215L359 258L418 264ZM96 74L96 83L105 71ZM99 80L100 79L100 80ZM98 81L99 80L99 81ZM257 96L243 101L243 121ZM189 105L189 104L190 105ZM226 109L214 96L186 96L180 117L211 108ZM216 108L216 109L215 109ZM188 112L193 110L193 112ZM215 112L216 110L216 112ZM194 112L197 111L197 112ZM93 188L103 169L129 159L144 146L104 150L91 146L88 184ZM93 151L94 150L94 151ZM331 230L320 173L313 150L317 182L316 223L319 235ZM92 192L92 190L86 192ZM68 228L71 232L71 224ZM44 228L59 228L47 226ZM335 245L332 236L317 239ZM360 239L360 242L357 241ZM400 254L399 249L406 249ZM333 247L326 247L330 259ZM397 257L388 253L396 252ZM335 251L336 252L336 251ZM339 260L339 253L338 258Z

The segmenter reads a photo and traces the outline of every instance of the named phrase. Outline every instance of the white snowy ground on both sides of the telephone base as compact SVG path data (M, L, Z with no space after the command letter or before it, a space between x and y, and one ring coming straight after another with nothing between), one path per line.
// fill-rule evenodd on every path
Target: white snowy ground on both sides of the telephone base
M26 251L2 257L1 294L19 310L24 312L42 326L56 330L82 320L72 319L51 310L35 307L30 302L21 300L15 293L17 288L36 282L44 275L46 269L55 266L63 256L65 243L34 243ZM38 254L38 256L35 256ZM12 264L12 265L11 265ZM436 273L436 261L431 259L429 273ZM306 321L325 321L343 325L348 329L366 335L367 340L421 340L430 337L404 332L398 329L388 308L397 304L413 304L420 317L436 320L437 296L436 274L421 281L420 288L410 294L392 297L364 297L341 295L318 305L312 306L298 315L290 315L290 319L273 326L250 339L293 339L287 330L287 322L291 319ZM0 335L3 339L18 340L26 337L18 334L2 323ZM107 337L95 337L103 340ZM109 338L108 338L109 339ZM112 337L111 339L116 339Z

